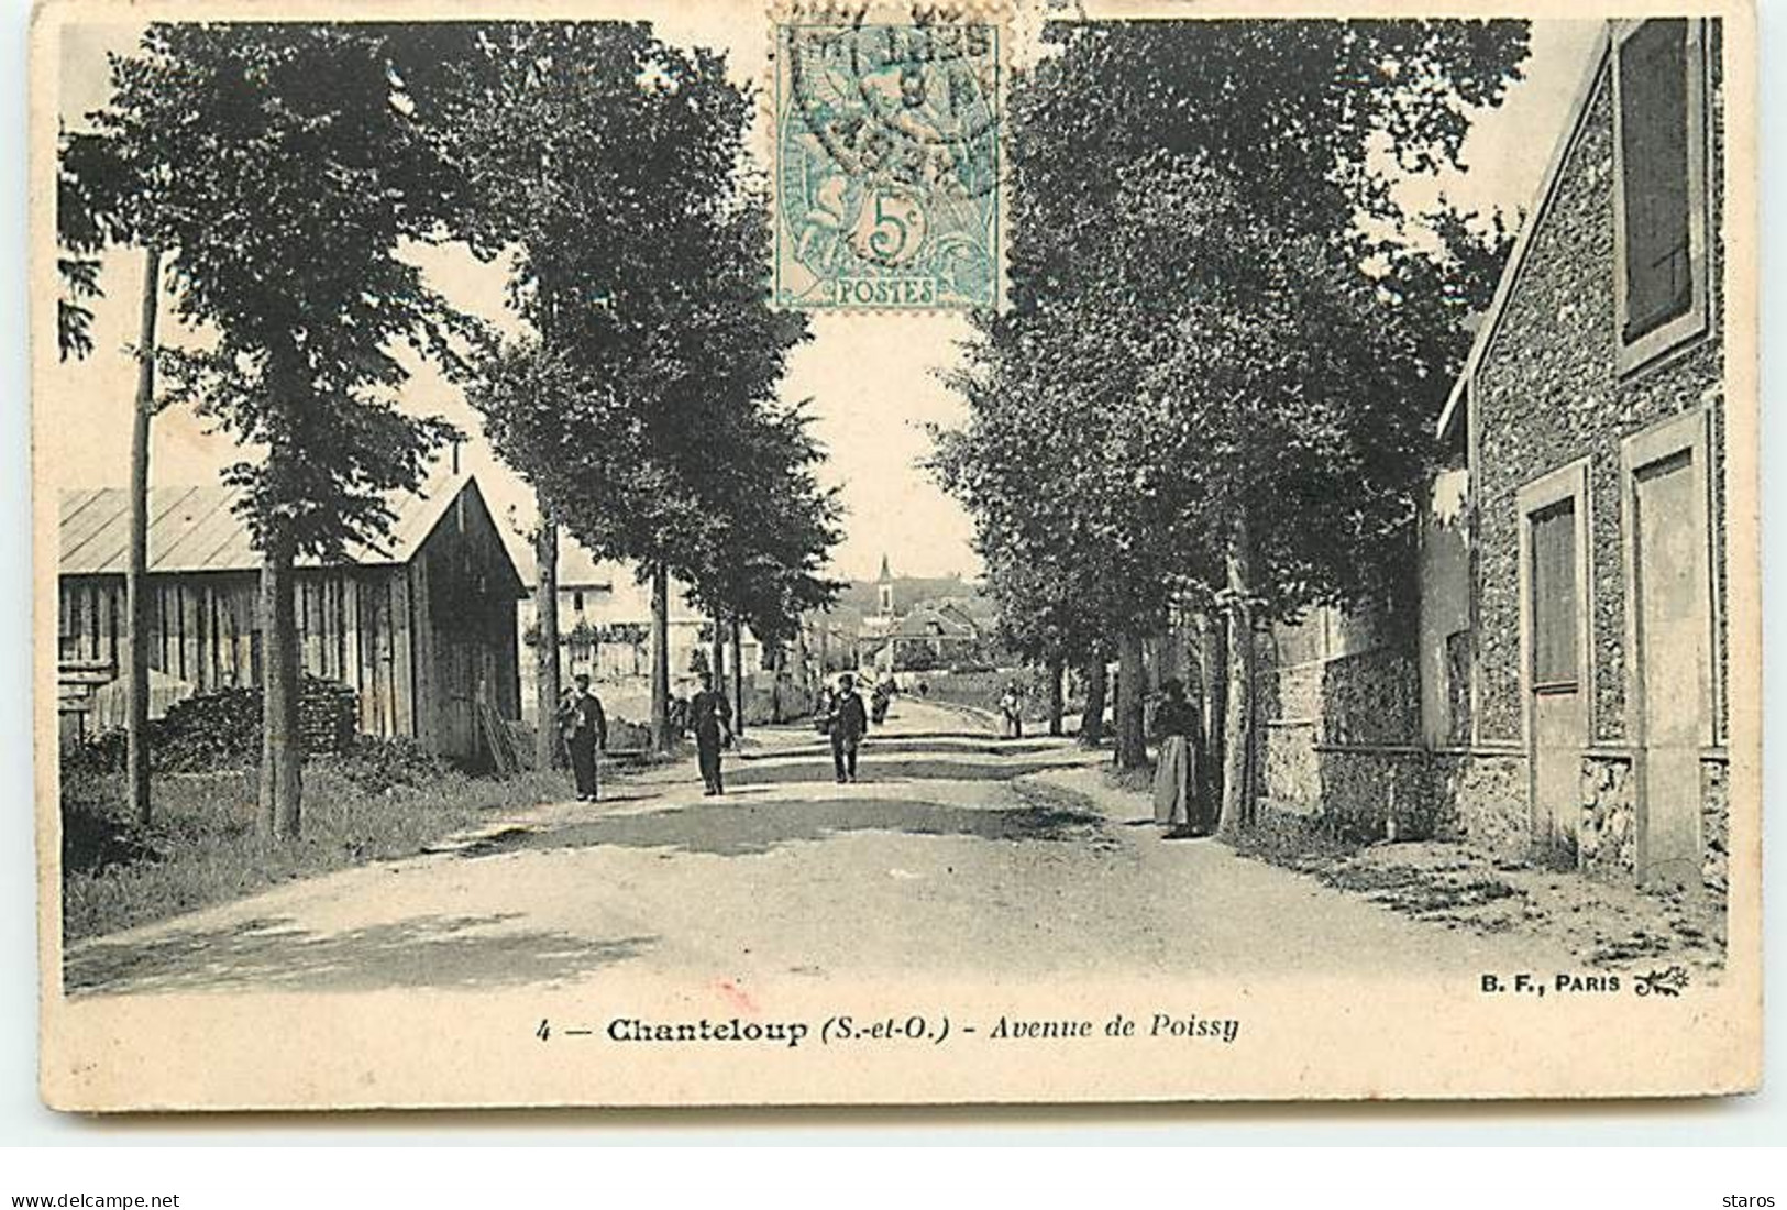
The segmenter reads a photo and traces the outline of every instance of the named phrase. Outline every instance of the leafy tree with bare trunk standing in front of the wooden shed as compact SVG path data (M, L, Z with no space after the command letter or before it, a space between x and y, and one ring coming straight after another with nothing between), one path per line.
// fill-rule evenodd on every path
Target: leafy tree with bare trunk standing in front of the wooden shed
M443 234L452 173L368 27L152 25L113 59L95 114L138 191L138 238L168 248L170 399L259 452L223 472L263 554L261 813L300 824L293 561L377 545L452 429L395 406L397 345L457 368L472 325L402 259Z

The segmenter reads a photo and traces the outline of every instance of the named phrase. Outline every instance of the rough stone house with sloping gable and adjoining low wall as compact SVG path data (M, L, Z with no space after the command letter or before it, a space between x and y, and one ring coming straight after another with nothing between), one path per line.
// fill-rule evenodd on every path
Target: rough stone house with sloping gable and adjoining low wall
M1612 21L1439 420L1412 609L1269 647L1263 797L1724 890L1719 21Z

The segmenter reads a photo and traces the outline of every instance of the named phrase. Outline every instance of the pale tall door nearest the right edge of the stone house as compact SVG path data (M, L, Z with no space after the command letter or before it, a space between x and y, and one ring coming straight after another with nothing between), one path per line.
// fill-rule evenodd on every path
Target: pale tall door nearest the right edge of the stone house
M1689 450L1633 474L1639 722L1639 878L1698 886L1699 745L1707 729L1705 593Z

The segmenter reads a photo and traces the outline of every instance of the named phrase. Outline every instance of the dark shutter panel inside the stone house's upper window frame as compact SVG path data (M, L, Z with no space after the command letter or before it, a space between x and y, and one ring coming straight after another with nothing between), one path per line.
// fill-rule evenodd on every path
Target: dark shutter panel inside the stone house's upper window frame
M1692 307L1687 98L1687 21L1646 21L1619 52L1626 343Z

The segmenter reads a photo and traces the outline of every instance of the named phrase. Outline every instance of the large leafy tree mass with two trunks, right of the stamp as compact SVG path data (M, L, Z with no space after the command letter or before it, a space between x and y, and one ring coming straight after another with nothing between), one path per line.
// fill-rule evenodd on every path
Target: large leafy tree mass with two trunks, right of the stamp
M954 481L983 547L1085 574L1076 597L1124 656L1120 763L1142 758L1140 634L1172 604L1226 613L1235 828L1254 627L1380 583L1499 243L1403 213L1394 182L1458 163L1472 109L1519 75L1526 27L1110 21L1053 38L1010 105L1013 309L979 320ZM1028 492L1001 470L1015 456Z

